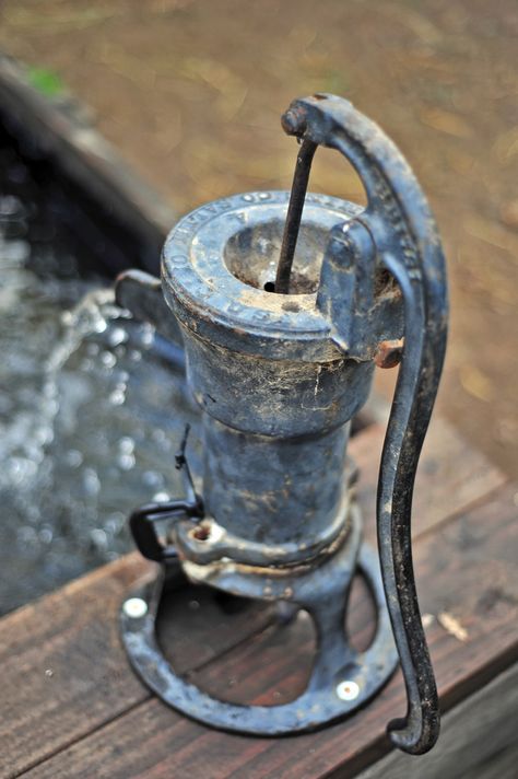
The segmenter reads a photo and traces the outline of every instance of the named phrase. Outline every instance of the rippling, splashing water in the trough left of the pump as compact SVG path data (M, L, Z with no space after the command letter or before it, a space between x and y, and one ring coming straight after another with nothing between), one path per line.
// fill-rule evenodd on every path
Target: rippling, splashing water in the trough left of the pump
M129 512L181 496L183 368L0 195L0 613L132 548ZM104 288L102 287L104 284Z

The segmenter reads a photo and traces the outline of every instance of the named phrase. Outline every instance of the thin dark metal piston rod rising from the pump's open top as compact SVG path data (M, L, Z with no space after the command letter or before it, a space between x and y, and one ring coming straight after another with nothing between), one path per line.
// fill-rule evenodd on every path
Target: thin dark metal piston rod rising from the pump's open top
M297 154L297 163L293 175L292 194L290 196L286 222L284 224L284 234L282 236L281 256L276 268L275 292L279 292L280 294L287 294L290 291L293 256L297 245L304 200L306 199L307 183L316 149L316 143L309 140L304 140Z

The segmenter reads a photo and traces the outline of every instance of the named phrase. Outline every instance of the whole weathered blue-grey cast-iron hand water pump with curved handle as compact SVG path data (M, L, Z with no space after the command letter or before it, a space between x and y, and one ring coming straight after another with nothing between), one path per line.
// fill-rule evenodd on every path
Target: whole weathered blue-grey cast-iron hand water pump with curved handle
M146 309L169 333L174 317L179 323L203 445L197 490L184 446L177 457L184 498L131 518L140 550L162 563L163 575L123 604L123 641L137 673L164 701L213 726L263 735L349 714L388 681L399 655L408 711L389 734L398 747L420 754L434 745L439 717L410 521L446 342L443 252L409 165L350 103L328 94L297 100L282 125L301 142L291 195L236 195L181 219L163 252L162 292L170 311L163 314L162 298L156 305L142 302L157 289L142 275L118 282L122 304ZM318 146L338 150L356 168L365 209L306 194ZM377 497L380 577L375 554L362 544L346 445L376 362L399 360ZM165 539L157 520L168 524ZM358 569L377 607L365 652L344 631ZM235 595L306 609L318 646L304 694L282 706L240 706L177 676L155 638L172 570Z

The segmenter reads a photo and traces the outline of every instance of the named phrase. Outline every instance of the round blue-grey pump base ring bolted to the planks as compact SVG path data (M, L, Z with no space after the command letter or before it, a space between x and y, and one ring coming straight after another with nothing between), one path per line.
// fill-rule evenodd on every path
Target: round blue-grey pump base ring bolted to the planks
M357 556L358 572L372 592L377 628L370 647L357 652L346 640L344 615L356 557L351 560L351 545L344 544L317 570L293 577L311 596L293 601L305 608L317 628L317 651L305 691L281 706L245 706L219 700L176 675L164 658L155 632L156 614L163 594L165 571L155 582L133 591L121 609L122 640L130 662L142 681L168 706L213 728L256 735L282 735L315 730L346 717L366 704L392 675L398 655L393 644L385 595L375 553L362 545ZM178 572L180 569L178 568ZM320 598L316 574L329 585ZM311 583L315 586L311 586ZM341 586L340 586L341 585ZM335 592L341 589L340 593ZM334 590L334 592L332 592Z

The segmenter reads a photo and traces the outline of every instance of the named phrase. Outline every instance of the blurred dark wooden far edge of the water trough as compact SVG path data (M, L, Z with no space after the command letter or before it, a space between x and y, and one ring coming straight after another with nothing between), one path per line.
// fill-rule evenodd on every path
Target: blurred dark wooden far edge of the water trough
M78 103L44 96L28 83L26 69L1 53L0 121L24 155L48 160L78 195L127 233L140 255L132 264L157 271L173 210L92 127Z

